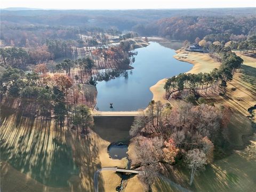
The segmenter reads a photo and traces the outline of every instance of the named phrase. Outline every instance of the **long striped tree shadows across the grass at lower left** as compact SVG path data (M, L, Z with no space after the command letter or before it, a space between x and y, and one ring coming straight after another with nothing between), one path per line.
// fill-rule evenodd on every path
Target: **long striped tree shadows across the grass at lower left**
M1 159L46 186L93 191L93 173L100 167L93 140L77 138L49 117L24 116L33 114L30 105L15 113L2 108Z

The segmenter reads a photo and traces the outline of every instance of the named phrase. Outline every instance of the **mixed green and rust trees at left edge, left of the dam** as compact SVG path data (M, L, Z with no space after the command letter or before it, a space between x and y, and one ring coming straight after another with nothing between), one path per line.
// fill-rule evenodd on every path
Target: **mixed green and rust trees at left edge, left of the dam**
M78 103L79 91L73 79L64 74L41 74L38 70L24 73L17 68L5 69L1 74L1 102L6 98L14 98L23 110L30 111L30 116L51 118L53 114L61 127L67 122L68 127L86 134L93 119L89 108L83 102ZM32 104L36 106L34 111L30 108Z

